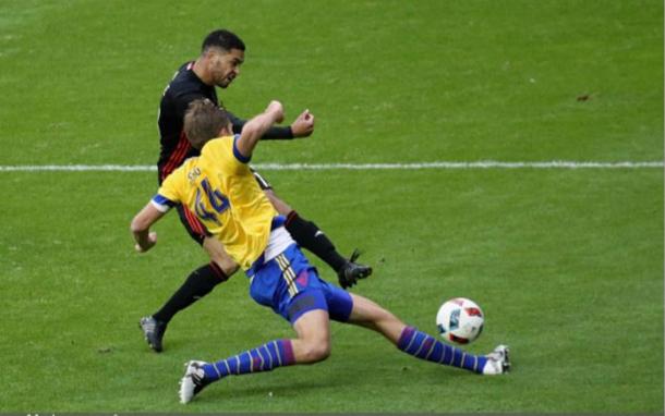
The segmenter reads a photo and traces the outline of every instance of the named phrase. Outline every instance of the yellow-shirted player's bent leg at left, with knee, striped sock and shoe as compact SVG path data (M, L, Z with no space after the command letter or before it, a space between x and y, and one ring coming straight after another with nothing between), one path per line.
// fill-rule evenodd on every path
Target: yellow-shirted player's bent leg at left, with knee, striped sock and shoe
M217 363L191 360L180 380L180 402L189 403L206 386L228 376L270 371L295 364L313 364L330 355L328 313L315 309L303 314L293 329L294 340L275 340Z

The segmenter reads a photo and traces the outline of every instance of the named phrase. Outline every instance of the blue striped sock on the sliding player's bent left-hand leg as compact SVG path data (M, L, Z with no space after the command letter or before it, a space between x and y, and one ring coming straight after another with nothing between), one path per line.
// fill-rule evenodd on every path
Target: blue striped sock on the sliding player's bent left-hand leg
M276 340L227 359L203 366L205 378L216 381L230 375L270 371L295 364L291 340Z

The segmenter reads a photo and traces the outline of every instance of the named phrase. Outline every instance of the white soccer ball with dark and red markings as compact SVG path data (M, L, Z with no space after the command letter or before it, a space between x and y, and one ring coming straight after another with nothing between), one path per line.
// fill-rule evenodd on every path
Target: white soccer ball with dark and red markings
M464 297L446 301L436 314L438 333L444 340L457 344L468 344L477 339L484 323L483 309Z

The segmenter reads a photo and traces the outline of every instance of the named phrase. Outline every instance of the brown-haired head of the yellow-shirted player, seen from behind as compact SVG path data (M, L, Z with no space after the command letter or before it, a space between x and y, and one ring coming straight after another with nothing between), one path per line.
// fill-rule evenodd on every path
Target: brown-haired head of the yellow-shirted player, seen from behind
M209 99L190 102L184 113L184 134L195 149L201 149L210 139L219 137L221 129L229 125L229 115Z

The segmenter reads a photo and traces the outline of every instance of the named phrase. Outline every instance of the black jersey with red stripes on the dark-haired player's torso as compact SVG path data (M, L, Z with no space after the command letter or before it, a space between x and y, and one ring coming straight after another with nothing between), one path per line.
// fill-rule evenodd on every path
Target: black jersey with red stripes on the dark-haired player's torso
M219 105L215 86L206 85L193 71L194 62L180 66L169 85L164 90L159 105L160 145L157 170L159 184L182 162L198 150L190 146L182 130L188 106L195 99L207 98Z

